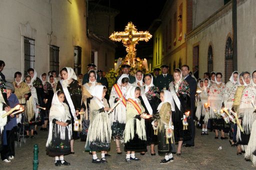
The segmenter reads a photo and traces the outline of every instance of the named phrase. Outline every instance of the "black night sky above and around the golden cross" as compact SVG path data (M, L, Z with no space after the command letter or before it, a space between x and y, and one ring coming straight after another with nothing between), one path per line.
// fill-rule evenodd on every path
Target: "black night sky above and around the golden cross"
M138 31L148 30L152 21L158 18L166 0L110 0L110 7L119 10L115 16L115 31L124 31L124 27L131 21ZM94 0L97 3L98 0ZM108 6L109 0L99 0L99 4ZM148 42L139 41L136 45L137 57L146 57L153 53L152 39ZM125 47L116 42L115 57L126 55Z

